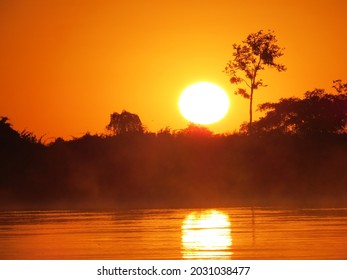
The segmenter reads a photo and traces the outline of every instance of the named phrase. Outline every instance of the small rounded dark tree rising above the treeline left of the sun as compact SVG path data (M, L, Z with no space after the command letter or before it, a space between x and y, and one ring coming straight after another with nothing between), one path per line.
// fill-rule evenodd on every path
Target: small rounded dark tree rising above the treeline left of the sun
M123 110L121 114L112 113L110 116L110 123L106 126L106 129L111 131L114 135L144 132L139 116L125 110Z

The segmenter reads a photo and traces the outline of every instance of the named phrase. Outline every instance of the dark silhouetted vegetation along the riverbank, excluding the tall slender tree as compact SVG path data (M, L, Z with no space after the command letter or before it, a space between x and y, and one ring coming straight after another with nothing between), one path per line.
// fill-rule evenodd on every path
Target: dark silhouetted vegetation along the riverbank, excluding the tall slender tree
M112 135L44 145L2 117L0 207L345 206L346 84L335 88L263 104L251 136L194 124L143 132L123 112Z

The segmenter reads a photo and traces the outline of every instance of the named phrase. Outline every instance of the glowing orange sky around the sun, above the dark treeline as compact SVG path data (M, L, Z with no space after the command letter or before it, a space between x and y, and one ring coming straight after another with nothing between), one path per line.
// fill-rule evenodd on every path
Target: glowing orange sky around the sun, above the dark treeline
M112 112L140 116L151 131L187 121L177 102L198 81L231 99L215 132L248 120L222 72L232 44L275 31L288 70L261 75L255 105L347 80L347 1L0 1L0 116L45 141L104 132ZM256 114L256 117L259 116Z

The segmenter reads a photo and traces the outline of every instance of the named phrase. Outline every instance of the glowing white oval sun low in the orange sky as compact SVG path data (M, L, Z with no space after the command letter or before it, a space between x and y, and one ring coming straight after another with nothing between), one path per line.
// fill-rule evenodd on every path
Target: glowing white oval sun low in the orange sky
M227 114L229 104L226 92L209 82L198 82L187 87L178 101L184 118L203 125L221 120Z

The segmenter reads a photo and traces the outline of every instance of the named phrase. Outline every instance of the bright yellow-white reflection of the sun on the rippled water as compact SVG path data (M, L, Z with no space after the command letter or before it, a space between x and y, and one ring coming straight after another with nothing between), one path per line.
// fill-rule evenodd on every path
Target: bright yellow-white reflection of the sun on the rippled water
M232 238L228 215L217 210L194 211L182 223L184 259L230 259Z

